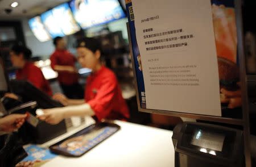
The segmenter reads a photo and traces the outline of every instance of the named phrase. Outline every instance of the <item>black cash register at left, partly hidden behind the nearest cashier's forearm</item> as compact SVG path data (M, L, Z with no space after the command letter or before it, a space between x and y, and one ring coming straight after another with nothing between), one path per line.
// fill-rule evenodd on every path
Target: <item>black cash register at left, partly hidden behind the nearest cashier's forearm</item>
M54 101L30 82L14 80L9 81L9 86L13 93L22 97L23 103L35 101L37 103L37 108L43 109L63 107L61 103ZM36 115L35 110L30 110L30 113L34 116ZM64 120L56 125L47 124L46 122L39 120L36 127L26 126L25 124L19 131L23 134L23 140L28 140L27 142L31 142L32 140L37 144L42 144L67 132L67 127Z

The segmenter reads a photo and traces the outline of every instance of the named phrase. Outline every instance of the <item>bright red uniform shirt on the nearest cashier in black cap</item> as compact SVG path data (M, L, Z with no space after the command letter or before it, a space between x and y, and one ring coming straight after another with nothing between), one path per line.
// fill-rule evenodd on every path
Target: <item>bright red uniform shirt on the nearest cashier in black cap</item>
M86 80L85 101L98 120L130 117L115 74L105 66Z

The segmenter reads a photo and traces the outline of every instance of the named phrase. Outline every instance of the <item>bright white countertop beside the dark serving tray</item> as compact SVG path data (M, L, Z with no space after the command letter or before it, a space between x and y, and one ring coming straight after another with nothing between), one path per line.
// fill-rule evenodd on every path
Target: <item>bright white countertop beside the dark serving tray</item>
M79 158L59 156L49 167L174 167L172 131L115 121L121 130Z

